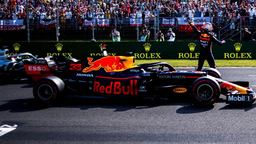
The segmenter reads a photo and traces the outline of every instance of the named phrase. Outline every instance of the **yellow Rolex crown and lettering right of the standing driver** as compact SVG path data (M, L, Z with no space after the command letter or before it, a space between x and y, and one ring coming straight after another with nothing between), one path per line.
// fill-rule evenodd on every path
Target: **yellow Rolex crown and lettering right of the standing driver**
M235 43L235 50L240 51L242 44ZM251 58L251 53L224 53L224 58Z

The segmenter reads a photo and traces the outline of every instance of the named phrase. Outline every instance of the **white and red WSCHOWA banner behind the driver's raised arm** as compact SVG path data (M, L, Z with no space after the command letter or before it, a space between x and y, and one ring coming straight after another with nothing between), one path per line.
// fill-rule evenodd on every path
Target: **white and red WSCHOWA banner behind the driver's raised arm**
M194 23L195 27L198 28L198 30L202 29L202 26L206 22L210 22L210 17L195 17L190 18L191 22ZM213 18L211 18L211 21ZM186 18L178 18L178 28L180 32L193 32L192 27L190 27L189 23L187 22Z

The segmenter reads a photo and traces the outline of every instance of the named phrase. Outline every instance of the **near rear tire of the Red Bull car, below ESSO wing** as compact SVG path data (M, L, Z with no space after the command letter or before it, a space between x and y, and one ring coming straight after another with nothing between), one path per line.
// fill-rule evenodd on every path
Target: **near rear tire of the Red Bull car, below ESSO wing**
M34 98L41 103L53 103L63 92L64 82L54 76L40 79L33 88Z

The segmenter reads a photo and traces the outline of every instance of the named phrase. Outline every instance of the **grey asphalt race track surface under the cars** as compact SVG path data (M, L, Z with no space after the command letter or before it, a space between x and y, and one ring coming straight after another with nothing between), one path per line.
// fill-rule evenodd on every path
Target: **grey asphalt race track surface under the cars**
M224 80L249 81L256 91L256 69L218 70ZM185 98L162 102L65 99L41 106L33 99L32 87L1 84L1 144L256 143L256 104L227 105L223 95L210 107L193 106ZM16 129L3 125L16 125ZM8 129L13 130L3 134Z

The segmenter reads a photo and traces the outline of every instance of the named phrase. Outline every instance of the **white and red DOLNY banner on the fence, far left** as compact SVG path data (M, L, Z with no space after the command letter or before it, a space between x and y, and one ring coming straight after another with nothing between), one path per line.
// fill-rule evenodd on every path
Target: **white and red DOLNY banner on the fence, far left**
M8 20L1 20L0 21L0 31L12 31L12 30L21 30L23 26L23 19L8 19Z

